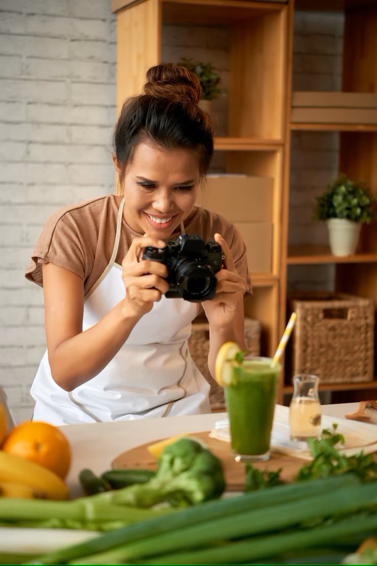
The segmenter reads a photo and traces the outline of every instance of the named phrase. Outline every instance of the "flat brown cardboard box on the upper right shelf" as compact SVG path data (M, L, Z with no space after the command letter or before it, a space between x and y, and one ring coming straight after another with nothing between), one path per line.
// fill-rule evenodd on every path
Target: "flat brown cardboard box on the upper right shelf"
M291 122L377 124L377 94L294 92Z

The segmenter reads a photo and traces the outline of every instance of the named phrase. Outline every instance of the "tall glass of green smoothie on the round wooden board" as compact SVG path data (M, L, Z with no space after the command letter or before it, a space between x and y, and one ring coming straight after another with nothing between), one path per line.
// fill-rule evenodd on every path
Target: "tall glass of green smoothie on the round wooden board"
M269 457L280 364L270 358L245 359L232 369L225 388L232 450L244 459ZM248 458L251 456L251 458Z

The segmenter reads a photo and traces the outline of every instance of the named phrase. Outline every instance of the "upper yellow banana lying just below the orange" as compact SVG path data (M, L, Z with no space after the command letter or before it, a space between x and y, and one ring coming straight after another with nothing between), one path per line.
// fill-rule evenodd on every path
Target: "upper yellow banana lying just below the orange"
M0 482L21 483L47 499L68 499L68 487L53 471L0 450Z

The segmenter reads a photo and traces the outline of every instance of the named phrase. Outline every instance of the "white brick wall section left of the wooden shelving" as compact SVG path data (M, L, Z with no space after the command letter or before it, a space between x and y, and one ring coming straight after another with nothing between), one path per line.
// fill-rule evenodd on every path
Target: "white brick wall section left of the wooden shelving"
M0 2L0 385L17 421L45 350L43 293L24 270L47 216L112 192L110 0Z

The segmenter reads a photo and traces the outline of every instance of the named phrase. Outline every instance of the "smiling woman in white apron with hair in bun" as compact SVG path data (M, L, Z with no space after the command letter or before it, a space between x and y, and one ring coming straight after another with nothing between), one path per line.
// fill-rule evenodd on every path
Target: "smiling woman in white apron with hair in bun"
M227 340L244 344L245 245L224 218L196 207L213 154L196 75L151 67L114 130L118 195L72 205L47 221L26 272L43 285L47 351L34 379L33 418L52 424L210 412L209 385L188 351L202 306L209 367ZM143 259L185 231L222 248L216 294L166 298L164 263Z

